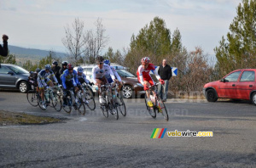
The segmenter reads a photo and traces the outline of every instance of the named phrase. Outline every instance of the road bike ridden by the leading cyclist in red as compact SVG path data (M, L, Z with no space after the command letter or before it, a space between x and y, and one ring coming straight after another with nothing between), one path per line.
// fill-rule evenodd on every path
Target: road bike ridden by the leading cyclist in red
M149 115L151 115L153 118L156 118L156 111L157 111L158 113L161 113L164 116L166 121L168 121L169 116L166 110L166 105L163 103L163 101L161 100L158 94L158 87L157 87L158 85L160 85L160 83L156 83L153 86L148 87L150 92L150 99L152 101L153 107L148 106L147 94L145 94L145 104L148 109ZM155 97L153 92L155 92Z

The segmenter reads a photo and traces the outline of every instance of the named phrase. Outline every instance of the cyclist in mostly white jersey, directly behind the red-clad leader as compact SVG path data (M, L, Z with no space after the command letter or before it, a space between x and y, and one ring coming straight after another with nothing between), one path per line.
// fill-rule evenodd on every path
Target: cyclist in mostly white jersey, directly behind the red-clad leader
M106 74L109 74L109 76L112 78L113 81L115 80L115 77L113 75L112 70L110 69L108 64L103 63L104 59L102 56L98 56L96 58L96 66L92 69L92 81L96 84L96 86L99 88L99 99L100 104L103 104L102 99L102 92L101 92L101 85L105 85L108 83L108 79L106 78Z

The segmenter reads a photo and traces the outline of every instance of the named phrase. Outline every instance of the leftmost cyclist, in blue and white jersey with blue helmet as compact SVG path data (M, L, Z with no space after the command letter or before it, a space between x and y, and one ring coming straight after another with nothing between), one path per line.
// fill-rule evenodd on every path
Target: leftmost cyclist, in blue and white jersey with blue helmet
M39 87L39 92L42 98L42 107L43 109L46 109L45 103L44 103L44 87L50 86L54 87L53 82L49 79L49 77L52 77L55 81L55 83L58 83L55 74L52 70L50 70L50 65L46 64L44 66L44 70L41 70L38 73L38 87Z

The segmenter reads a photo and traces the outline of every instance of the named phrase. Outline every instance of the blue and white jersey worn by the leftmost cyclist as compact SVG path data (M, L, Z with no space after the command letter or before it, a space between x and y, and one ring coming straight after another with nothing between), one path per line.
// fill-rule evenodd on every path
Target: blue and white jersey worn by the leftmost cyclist
M46 72L45 70L41 70L38 73L38 87L40 88L44 88L45 86L47 86L47 84L49 84L49 77L52 77L56 83L58 83L55 74L52 70L49 70L49 72Z

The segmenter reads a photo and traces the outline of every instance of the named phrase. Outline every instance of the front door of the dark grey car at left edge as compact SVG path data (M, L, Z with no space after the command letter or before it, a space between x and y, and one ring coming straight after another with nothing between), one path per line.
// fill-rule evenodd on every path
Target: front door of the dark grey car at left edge
M0 86L15 87L15 78L15 73L12 70L10 70L7 66L2 64L0 68Z

